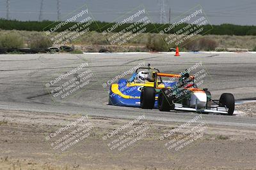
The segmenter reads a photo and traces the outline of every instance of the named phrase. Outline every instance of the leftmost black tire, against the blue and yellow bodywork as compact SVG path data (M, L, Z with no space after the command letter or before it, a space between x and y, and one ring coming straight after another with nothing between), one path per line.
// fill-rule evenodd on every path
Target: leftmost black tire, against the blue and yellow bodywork
M156 90L153 87L144 87L140 94L140 107L152 110L155 105Z

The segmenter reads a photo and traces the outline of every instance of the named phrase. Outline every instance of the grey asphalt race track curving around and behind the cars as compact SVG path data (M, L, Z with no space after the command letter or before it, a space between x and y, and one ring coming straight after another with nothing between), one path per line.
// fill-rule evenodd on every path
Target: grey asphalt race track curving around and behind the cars
M197 113L160 112L108 106L108 81L137 66L150 63L165 73L180 73L202 62L207 71L202 87L214 99L223 92L234 94L236 100L256 97L256 57L253 53L86 53L31 54L0 56L0 109L54 113L87 113L99 117L135 118L145 114L148 120L186 122ZM54 99L46 83L86 62L93 73L90 83L65 99ZM195 73L195 71L192 71ZM125 76L128 78L129 76ZM64 81L63 81L64 82ZM62 83L63 83L62 82ZM106 83L106 88L102 84ZM58 87L61 82L51 88ZM51 91L51 89L50 89ZM212 125L256 127L256 118L204 114L204 122Z

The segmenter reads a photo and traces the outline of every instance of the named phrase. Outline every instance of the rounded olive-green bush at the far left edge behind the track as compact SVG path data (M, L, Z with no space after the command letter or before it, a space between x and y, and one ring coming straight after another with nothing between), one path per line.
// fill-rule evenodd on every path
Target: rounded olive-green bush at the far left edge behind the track
M0 36L0 48L22 48L23 46L24 41L17 33L9 32Z

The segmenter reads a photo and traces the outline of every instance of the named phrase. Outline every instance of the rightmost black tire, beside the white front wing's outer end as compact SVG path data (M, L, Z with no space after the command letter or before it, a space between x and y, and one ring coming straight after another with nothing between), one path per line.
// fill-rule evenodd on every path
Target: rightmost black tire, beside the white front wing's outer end
M221 107L228 108L228 115L233 115L235 110L235 98L233 94L230 94L230 93L221 94L219 104Z

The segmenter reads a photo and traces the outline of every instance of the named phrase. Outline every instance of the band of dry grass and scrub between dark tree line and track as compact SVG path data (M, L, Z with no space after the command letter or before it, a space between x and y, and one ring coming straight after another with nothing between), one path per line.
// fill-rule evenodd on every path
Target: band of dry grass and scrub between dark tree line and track
M58 33L53 33L51 36L56 36ZM113 36L113 32L109 32L106 36ZM11 36L9 36L11 35ZM14 36L14 38L13 38ZM100 48L106 48L104 45L111 45L109 41L106 39L106 36L102 36L100 32L91 31L86 32L78 38L72 40L68 46L77 45L77 46L85 46L85 45L103 45ZM164 41L164 38L169 36L168 34L164 34L161 36L160 34L151 34L151 33L142 33L140 36L136 38L130 39L127 43L124 43L124 46L138 46L137 49L132 48L118 48L118 52L122 52L123 50L127 50L127 52L141 51L143 48L143 52L147 48L151 51L169 51L170 48L175 48L176 46L167 45ZM1 41L2 39L2 41ZM9 39L14 41L10 43ZM9 42L9 43L5 43ZM19 44L19 42L21 43ZM1 43L2 42L2 43ZM256 36L220 36L220 35L195 35L193 38L189 39L188 42L182 43L179 46L180 51L193 51L193 50L216 50L216 51L227 51L228 48L243 48L250 49L256 51ZM18 45L16 45L18 43ZM49 42L49 38L46 36L45 32L37 32L37 31L4 31L0 30L0 48L4 48L4 44L6 48L6 44L12 45L12 48L40 48L40 46L52 46L51 42ZM8 46L9 46L8 45ZM21 47L20 47L21 46ZM144 47L143 47L144 46ZM91 48L91 47L90 47ZM88 48L88 49L90 49ZM98 49L98 48L97 48ZM115 52L115 47L111 48L112 52ZM135 49L135 50L134 50ZM77 48L76 50L82 50L82 48ZM92 50L93 47L92 47ZM96 50L97 52L99 51Z

